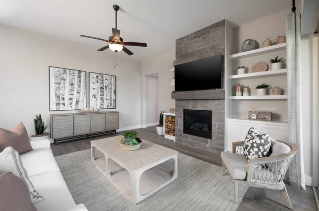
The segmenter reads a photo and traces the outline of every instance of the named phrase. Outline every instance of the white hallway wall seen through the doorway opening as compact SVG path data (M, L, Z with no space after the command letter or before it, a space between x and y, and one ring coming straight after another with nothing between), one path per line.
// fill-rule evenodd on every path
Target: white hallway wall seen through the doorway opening
M159 120L159 76L146 76L146 124L152 126Z

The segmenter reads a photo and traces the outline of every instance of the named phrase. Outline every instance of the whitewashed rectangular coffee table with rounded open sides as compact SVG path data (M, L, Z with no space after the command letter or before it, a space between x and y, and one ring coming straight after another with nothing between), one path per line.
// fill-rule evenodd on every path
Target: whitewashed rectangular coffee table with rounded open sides
M177 178L177 151L142 141L140 149L124 151L123 136L91 141L91 161L102 174L134 205ZM98 149L104 156L96 158ZM173 170L159 164L173 160Z

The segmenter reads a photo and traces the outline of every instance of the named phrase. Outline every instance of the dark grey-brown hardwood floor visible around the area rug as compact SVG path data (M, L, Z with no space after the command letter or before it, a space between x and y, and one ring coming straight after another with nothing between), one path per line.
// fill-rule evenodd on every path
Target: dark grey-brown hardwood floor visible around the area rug
M145 129L136 129L136 131L139 133L139 137L141 139L152 141L177 150L180 153L221 166L220 155L211 152L203 152L202 150L175 143L172 140L164 139L163 136L157 135L155 126ZM90 137L88 139L63 142L58 145L51 144L51 149L54 156L58 156L89 149L91 147L90 141L118 136L121 134L122 133L119 132L116 135L110 134ZM317 211L312 187L307 186L306 191L294 189L288 184L286 184L286 187L294 211ZM280 191L250 187L237 211L290 211L290 209L286 207Z

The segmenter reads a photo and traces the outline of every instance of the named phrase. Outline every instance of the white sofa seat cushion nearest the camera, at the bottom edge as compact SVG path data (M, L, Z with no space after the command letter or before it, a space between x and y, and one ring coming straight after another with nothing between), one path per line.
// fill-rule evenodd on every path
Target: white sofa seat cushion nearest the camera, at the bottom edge
M44 200L34 206L38 211L66 211L75 206L60 171L51 171L30 177Z

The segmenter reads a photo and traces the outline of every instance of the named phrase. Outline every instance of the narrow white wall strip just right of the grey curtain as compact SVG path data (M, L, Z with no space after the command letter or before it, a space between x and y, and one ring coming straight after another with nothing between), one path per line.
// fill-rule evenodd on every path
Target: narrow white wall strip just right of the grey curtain
M301 37L301 106L303 124L303 147L305 179L307 185L312 185L312 54L313 36ZM317 81L318 82L318 81Z

